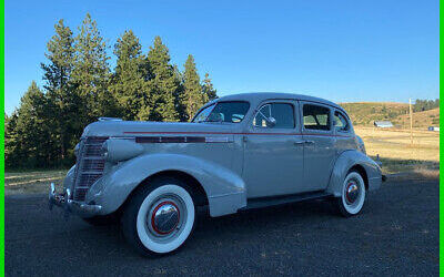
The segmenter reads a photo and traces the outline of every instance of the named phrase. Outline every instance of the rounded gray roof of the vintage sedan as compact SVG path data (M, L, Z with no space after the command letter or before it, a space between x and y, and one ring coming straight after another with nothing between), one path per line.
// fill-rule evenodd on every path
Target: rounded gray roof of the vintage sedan
M302 101L311 101L311 102L317 102L322 104L326 104L333 107L336 107L343 112L344 109L336 103L333 103L329 100L325 99L320 99L320 98L314 98L310 95L303 95L303 94L294 94L294 93L282 93L282 92L248 92L248 93L238 93L238 94L231 94L226 96L222 96L220 99L216 99L215 101L248 101L250 103L261 103L262 101L269 100L269 99L276 99L276 100L302 100Z

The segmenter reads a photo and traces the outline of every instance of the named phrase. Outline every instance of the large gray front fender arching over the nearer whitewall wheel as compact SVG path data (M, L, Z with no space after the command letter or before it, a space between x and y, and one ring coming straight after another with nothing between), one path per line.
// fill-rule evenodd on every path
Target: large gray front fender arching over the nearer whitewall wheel
M101 214L110 214L145 178L164 171L180 171L196 178L206 193L211 216L232 214L246 205L245 184L238 174L181 154L147 154L119 164L91 186L87 203L93 201L102 205Z

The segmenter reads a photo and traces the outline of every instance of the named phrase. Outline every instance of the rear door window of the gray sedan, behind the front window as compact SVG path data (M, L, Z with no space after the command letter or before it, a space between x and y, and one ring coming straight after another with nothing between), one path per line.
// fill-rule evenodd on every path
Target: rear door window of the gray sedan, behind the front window
M304 129L330 130L330 109L320 105L304 104Z

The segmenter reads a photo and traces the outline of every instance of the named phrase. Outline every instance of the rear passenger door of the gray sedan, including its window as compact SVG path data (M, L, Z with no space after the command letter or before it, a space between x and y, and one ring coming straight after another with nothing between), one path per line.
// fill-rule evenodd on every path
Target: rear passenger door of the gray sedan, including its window
M304 138L305 192L325 189L336 156L333 113L329 105L300 102Z

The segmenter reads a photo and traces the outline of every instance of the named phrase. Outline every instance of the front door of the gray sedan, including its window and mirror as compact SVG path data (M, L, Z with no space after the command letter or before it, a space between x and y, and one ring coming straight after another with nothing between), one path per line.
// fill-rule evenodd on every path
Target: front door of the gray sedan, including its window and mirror
M243 178L249 198L294 194L303 182L296 101L262 103L244 134ZM268 119L274 119L274 126Z

